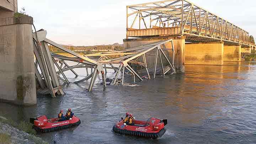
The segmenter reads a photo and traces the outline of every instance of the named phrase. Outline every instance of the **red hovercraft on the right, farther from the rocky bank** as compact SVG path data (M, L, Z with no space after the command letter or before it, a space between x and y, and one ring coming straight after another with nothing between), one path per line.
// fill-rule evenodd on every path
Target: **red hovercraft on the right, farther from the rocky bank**
M132 135L146 138L159 138L164 135L167 119L149 118L148 121L137 121L134 119L134 125L127 125L123 118L113 126L113 131L118 134Z

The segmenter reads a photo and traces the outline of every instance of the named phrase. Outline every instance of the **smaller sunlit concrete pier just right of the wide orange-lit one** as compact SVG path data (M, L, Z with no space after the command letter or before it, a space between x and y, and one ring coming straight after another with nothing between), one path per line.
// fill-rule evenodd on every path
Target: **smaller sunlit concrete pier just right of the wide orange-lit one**
M224 45L224 61L225 62L240 62L241 61L241 45L226 46Z

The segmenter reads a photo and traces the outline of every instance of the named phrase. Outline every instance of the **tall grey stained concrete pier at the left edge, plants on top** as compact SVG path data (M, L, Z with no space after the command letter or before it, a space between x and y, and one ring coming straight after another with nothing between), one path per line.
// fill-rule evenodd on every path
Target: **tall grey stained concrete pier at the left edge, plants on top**
M25 23L0 25L0 99L18 105L34 105L37 98L31 25L33 19L25 19L21 18Z

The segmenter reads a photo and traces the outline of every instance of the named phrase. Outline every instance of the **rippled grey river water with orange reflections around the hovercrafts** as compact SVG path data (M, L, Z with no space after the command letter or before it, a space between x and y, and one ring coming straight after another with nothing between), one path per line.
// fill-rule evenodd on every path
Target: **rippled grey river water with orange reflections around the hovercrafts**
M64 86L65 96L41 96L37 105L30 107L0 103L0 111L15 121L28 121L29 117L43 114L56 117L60 109L72 108L81 124L38 135L49 143L256 143L256 62L224 64L186 65L186 74L159 76L139 82L136 87L103 89L102 85L96 85L94 91L87 92L88 82L71 83ZM76 71L84 74L81 69ZM75 81L72 73L67 76ZM165 135L145 139L114 133L113 125L125 112L140 120L168 119Z

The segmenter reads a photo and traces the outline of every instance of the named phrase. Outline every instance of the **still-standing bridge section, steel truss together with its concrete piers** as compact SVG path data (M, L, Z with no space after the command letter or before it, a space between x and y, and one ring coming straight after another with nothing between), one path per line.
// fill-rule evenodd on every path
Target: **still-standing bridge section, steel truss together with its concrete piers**
M126 48L163 39L174 39L177 73L185 64L241 61L241 49L249 48L249 32L188 0L127 6Z

